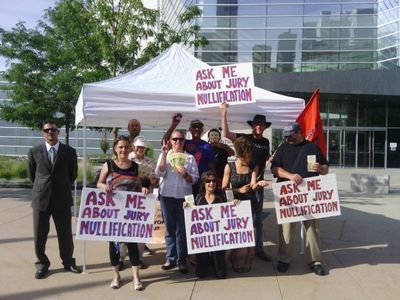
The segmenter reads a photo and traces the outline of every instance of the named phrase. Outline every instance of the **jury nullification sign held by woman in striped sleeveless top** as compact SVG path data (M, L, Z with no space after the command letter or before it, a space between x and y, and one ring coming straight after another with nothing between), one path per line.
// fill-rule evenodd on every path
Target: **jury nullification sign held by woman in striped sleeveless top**
M115 242L152 240L156 197L153 194L100 189L82 190L76 238Z

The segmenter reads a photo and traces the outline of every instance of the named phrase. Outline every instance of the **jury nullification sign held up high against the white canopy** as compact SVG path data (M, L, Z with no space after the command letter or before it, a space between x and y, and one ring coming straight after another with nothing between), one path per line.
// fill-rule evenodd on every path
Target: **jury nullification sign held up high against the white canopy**
M197 69L194 78L197 108L256 102L252 63Z

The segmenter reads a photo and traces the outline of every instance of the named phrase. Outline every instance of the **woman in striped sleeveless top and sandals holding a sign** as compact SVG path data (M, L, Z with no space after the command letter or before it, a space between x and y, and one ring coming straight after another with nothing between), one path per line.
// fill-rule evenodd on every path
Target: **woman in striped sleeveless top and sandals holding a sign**
M103 165L97 188L106 192L120 190L148 193L148 189L141 185L138 165L129 159L131 150L131 143L127 136L117 137L113 144L116 159L107 160ZM144 287L139 276L140 254L137 243L126 243L126 245L128 247L129 260L132 264L134 288L137 291L142 291ZM118 289L121 280L119 274L120 247L118 242L109 243L109 254L114 273L110 287Z

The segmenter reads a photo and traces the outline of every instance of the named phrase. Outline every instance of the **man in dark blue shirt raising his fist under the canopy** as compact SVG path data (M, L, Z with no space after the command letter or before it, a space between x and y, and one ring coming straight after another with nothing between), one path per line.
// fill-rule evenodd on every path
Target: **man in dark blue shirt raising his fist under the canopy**
M169 141L171 133L176 129L182 120L182 114L176 114L172 117L171 126L164 134L163 140ZM207 170L215 171L215 155L211 144L203 141L201 135L203 134L204 124L200 120L192 120L189 126L189 132L192 134L191 140L185 140L185 151L193 155L197 167L199 169L199 176ZM161 141L162 143L162 141ZM193 195L199 192L199 182L193 185Z

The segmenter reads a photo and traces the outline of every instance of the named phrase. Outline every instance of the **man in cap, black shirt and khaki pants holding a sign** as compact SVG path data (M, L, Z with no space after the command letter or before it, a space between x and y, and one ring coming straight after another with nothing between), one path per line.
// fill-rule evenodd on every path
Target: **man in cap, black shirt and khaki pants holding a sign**
M276 150L271 165L271 171L278 177L278 182L292 180L296 184L300 184L303 178L328 173L328 161L315 143L304 139L298 123L293 122L285 126L283 135L287 141ZM307 161L310 156L315 162L308 167ZM319 220L307 220L303 223L306 228L306 250L309 266L315 274L326 275L327 272L322 265L320 250ZM279 262L277 266L279 272L286 272L293 258L296 224L279 225Z

